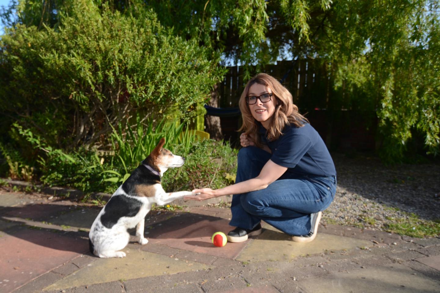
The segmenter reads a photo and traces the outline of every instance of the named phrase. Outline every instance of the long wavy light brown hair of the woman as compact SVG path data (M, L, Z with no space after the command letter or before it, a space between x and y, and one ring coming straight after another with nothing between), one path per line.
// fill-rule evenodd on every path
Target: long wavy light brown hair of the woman
M286 125L293 124L296 127L303 127L304 123L309 123L308 119L302 116L298 112L297 105L293 104L292 94L283 87L283 85L274 77L266 74L259 73L251 78L246 84L245 89L240 96L238 105L242 112L243 124L238 131L244 131L246 135L254 136L254 142L257 147L261 147L260 135L258 135L257 120L253 118L249 105L246 104L246 97L249 94L249 88L254 84L259 83L261 85L270 87L273 95L276 97L278 104L275 106L275 112L270 118L269 129L266 131L266 136L269 141L274 141L282 135L282 130Z

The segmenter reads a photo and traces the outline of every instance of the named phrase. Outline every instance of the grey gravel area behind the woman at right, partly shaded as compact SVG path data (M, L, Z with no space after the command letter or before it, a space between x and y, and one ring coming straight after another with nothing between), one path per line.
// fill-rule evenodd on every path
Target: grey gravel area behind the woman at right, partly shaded
M323 222L386 230L392 219L440 220L440 165L384 166L376 157L333 153L337 170L334 202Z

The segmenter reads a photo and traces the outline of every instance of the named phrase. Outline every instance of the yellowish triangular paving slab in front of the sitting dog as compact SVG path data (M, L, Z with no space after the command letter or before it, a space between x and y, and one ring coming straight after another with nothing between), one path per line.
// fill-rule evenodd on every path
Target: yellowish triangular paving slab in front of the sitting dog
M147 244L148 245L148 244ZM149 253L142 250L124 249L127 257L97 258L66 278L46 287L44 291L66 289L128 279L145 278L156 275L176 274L185 271L197 271L209 268L206 264L199 264L175 257Z

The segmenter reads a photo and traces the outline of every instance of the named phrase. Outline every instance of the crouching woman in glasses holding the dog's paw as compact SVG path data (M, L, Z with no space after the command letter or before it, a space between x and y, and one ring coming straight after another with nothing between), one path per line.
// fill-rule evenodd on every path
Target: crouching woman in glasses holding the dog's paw
M336 193L336 170L316 130L298 112L292 95L272 76L260 73L246 84L239 101L243 125L239 131L236 183L220 189L194 189L205 200L233 194L235 226L230 242L261 233L260 221L293 235L296 242L316 237L321 211Z

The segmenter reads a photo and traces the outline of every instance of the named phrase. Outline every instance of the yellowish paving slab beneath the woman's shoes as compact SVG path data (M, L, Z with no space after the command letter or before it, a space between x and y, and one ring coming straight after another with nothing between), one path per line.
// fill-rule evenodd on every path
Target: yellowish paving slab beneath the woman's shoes
M318 233L310 243L293 242L289 235L264 225L263 233L237 257L241 261L291 260L301 255L322 253L327 250L351 250L371 245L370 241L332 234Z

